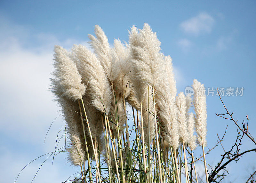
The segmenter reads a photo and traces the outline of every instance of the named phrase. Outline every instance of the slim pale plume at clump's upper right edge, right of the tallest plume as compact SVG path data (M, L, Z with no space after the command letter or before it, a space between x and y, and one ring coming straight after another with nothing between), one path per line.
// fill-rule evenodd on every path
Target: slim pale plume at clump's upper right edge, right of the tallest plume
M170 84L170 92L172 97L175 97L177 94L176 81L174 79L173 67L172 67L172 58L170 55L164 57L167 79Z

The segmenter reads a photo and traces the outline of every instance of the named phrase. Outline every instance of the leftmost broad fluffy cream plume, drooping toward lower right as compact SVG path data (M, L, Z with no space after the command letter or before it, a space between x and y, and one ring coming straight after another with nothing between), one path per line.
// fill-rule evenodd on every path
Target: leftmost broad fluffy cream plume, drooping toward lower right
M77 100L85 93L85 85L81 84L76 64L69 58L68 51L61 46L54 47L54 67L53 75L62 86L63 96L68 99Z

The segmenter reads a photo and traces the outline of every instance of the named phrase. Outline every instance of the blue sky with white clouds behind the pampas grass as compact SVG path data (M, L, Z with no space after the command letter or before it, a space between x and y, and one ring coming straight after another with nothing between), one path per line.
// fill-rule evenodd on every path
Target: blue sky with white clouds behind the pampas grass
M250 118L250 131L256 136L255 1L4 1L0 2L0 175L14 182L19 171L31 160L55 147L64 122L47 88L51 77L53 46L70 48L86 44L93 26L100 25L110 44L114 38L128 41L128 30L147 22L157 32L162 51L173 59L178 92L194 78L205 87L244 87L243 96L223 97L235 119ZM228 131L223 142L236 138L233 123L215 116L224 113L217 96L207 97L208 147L215 145L216 133ZM44 143L45 134L54 121ZM244 148L254 148L244 138ZM222 148L208 157L215 165ZM195 152L197 155L200 151ZM241 182L256 166L250 153L228 165L223 182ZM76 172L62 153L46 161L35 182L62 182ZM17 182L33 179L44 158L30 164ZM201 167L200 163L198 164ZM47 175L47 176L45 176Z

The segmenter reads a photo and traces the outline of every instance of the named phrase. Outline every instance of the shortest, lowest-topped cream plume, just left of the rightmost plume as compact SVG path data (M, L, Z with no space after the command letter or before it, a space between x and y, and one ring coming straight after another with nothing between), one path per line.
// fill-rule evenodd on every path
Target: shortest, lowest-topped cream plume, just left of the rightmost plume
M188 146L194 150L196 148L196 135L195 132L195 119L194 114L191 112L188 115Z

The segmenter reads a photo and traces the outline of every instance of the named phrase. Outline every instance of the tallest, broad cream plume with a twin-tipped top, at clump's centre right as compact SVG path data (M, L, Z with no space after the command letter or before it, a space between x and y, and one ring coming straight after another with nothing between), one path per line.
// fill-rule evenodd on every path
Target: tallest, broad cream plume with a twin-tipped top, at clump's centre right
M141 83L156 86L161 83L164 55L160 52L160 41L147 23L143 29L132 26L129 43L133 62L133 71Z

